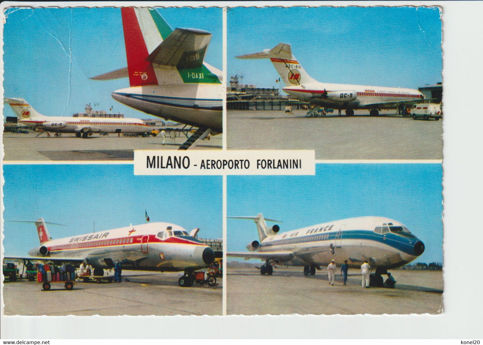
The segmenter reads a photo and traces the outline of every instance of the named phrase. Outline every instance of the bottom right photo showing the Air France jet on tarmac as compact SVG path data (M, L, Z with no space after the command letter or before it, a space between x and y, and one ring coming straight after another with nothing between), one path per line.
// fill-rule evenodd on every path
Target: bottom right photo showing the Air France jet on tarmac
M443 312L441 164L227 177L227 314Z

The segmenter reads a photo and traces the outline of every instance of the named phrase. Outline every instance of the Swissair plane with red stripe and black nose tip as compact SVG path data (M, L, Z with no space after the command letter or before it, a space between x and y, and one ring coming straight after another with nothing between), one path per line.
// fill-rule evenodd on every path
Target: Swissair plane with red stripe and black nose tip
M215 259L213 249L194 237L198 228L188 233L171 223L153 222L59 239L49 236L43 218L35 221L35 226L40 246L31 249L29 257L4 259L86 262L94 268L94 276L103 276L103 269L113 268L114 262L121 262L123 270L185 272L178 280L182 287L192 286L193 272Z

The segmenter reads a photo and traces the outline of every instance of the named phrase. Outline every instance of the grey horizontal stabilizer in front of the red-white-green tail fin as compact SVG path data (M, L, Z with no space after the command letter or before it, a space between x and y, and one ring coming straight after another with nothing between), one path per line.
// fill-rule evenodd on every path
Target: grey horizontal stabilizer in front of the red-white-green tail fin
M201 67L212 34L198 29L174 29L146 58L147 61L178 68Z

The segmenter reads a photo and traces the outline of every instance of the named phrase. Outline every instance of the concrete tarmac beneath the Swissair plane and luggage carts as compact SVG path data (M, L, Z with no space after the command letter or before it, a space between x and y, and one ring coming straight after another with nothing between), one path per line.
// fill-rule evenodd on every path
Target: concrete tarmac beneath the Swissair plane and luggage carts
M70 291L61 282L44 291L41 283L7 281L4 315L222 315L221 278L214 287L182 288L181 275L124 270L121 283L76 282Z

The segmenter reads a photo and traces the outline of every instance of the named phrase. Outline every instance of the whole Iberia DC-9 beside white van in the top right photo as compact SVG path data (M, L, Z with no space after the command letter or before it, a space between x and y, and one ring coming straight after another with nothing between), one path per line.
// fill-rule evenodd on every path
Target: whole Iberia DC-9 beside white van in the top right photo
M423 94L415 89L318 82L307 74L292 55L290 44L286 43L237 58L270 59L287 85L283 90L288 95L319 106L345 109L347 116L353 116L355 109L368 109L371 116L377 116L381 109L396 109L401 104L412 104L424 99ZM317 108L308 114L315 113Z

